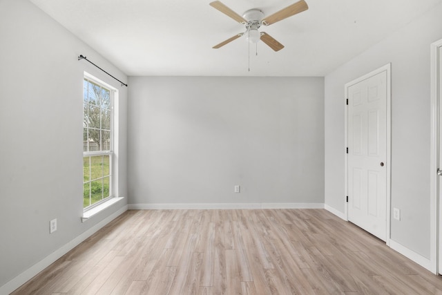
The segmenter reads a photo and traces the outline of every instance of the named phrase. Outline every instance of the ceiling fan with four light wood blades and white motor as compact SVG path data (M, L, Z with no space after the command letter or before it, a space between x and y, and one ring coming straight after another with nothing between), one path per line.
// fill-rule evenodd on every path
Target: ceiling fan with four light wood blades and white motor
M246 35L250 43L258 43L259 40L262 40L267 46L275 51L281 50L284 46L267 34L267 32L260 32L258 30L260 26L270 26L272 23L282 21L282 19L287 19L287 17L297 15L298 13L309 9L307 3L305 3L304 0L300 0L291 4L291 6L287 6L286 8L273 13L273 15L269 15L268 17L264 17L264 13L256 8L247 10L241 17L238 13L221 3L221 1L213 1L209 5L220 10L224 15L231 17L246 27L245 32L240 32L239 34L222 41L220 44L213 46L213 48L220 48L229 44L231 41L238 39L242 35Z

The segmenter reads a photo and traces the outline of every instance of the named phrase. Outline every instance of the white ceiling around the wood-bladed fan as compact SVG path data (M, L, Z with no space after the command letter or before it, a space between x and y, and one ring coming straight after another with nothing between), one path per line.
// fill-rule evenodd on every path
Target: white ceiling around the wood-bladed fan
M306 0L309 10L262 27L285 48L244 37L211 0L30 0L127 75L324 76L442 0ZM222 0L264 15L296 0ZM86 53L82 53L86 55Z

